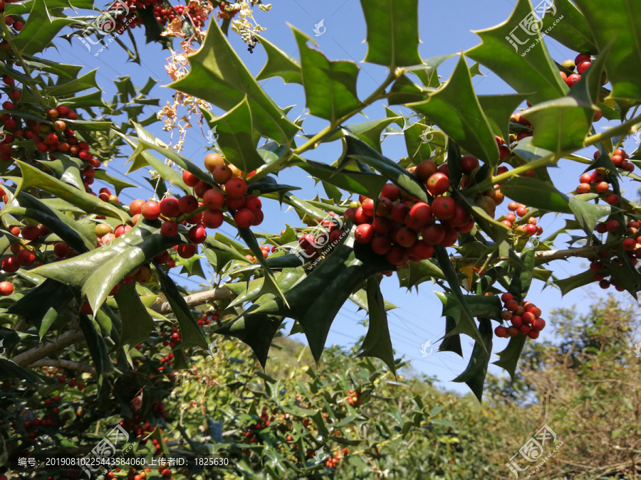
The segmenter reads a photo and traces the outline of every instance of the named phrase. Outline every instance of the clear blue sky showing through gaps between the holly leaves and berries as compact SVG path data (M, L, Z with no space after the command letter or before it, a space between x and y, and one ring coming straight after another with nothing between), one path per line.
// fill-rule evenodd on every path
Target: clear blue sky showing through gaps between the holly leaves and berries
M514 2L510 0L465 2L464 6L452 2L419 1L419 35L422 40L419 53L422 58L429 58L435 55L460 53L462 50L467 50L479 43L478 37L471 32L472 30L481 30L501 23L510 16L513 9ZM267 28L262 33L265 38L295 57L298 57L298 49L288 23L314 38L318 43L318 48L330 60L355 61L361 68L357 85L358 95L361 99L367 97L385 79L385 68L380 65L361 63L367 52L367 44L364 42L366 36L365 21L359 1L274 1L271 11L267 13L256 9L255 18L261 26ZM322 35L315 36L314 28L321 20L325 31ZM557 28L563 28L563 24L561 23ZM318 31L320 32L322 29ZM51 48L46 50L46 58L86 65L83 73L93 70L93 68L98 68L98 83L104 91L104 97L107 99L115 93L113 81L118 76L129 75L132 81L139 86L144 85L147 78L155 78L160 83L157 87L154 87L150 95L152 97L160 97L162 99L160 105L165 105L165 100L170 100L171 98L172 90L160 85L166 85L170 82L170 78L165 73L164 68L169 53L167 50L161 50L157 44L145 46L142 33L141 28L135 29L135 38L142 57L141 65L127 63L127 55L115 43L112 43L108 50L103 51L97 57L89 55L78 39L73 39L71 46L66 41L57 41L58 51L56 52ZM254 53L250 54L239 36L230 33L229 39L249 70L254 75L259 73L266 60L266 55L261 50L261 46L258 46ZM124 37L123 40L125 43L127 42ZM550 53L555 60L561 62L566 58L575 57L575 53L570 52L570 50L556 43L556 41L550 38L547 41ZM174 47L179 48L176 41L174 41ZM447 78L456 62L457 57L447 60L439 68L439 74L444 79ZM468 60L469 65L472 63L471 60ZM485 73L486 76L473 78L477 94L487 95L512 92L508 85L482 66L481 72ZM281 107L294 105L288 116L291 119L299 116L306 118L303 123L303 129L306 133L316 133L326 126L327 123L324 120L308 117L306 114L305 98L301 85L285 85L280 78L272 78L261 82L261 86ZM384 116L383 105L383 102L379 102L365 110L368 118L375 119ZM394 107L393 110L398 111L399 108ZM405 112L407 113L408 111L406 110ZM151 113L152 109L147 107L145 115L141 118L145 118ZM365 117L357 116L351 119L348 124L363 121L365 121ZM604 119L595 124L595 127L597 131L600 131L600 127L606 124L607 122ZM161 127L162 123L158 122L150 127L150 130L160 139L169 142L169 135L166 132L162 132ZM207 144L207 139L204 138L197 127L194 127L187 134L187 142L183 154L196 161L197 164L202 165ZM633 141L628 140L626 144L629 151L632 151ZM387 137L383 142L383 153L391 159L399 159L407 154L404 142L400 137ZM591 157L592 153L593 149L585 151L586 156L589 155ZM339 155L340 142L335 142L335 144L323 145L316 151L308 152L306 157L331 163ZM118 159L113 161L109 167L113 174L123 173L127 169L123 164L124 160ZM573 191L578 185L578 176L582 173L583 166L573 164L570 161L561 161L560 166L561 169L550 170L553 181L561 191L566 193ZM147 183L140 179L139 174L140 172L136 172L132 176L133 180L130 181L135 181L141 186L144 185L145 192L143 193L142 190L134 191L133 189L125 190L121 195L121 201L128 203L133 198L146 199L152 195L152 191L148 188ZM315 189L313 181L303 171L284 171L279 176L279 181L290 185L302 186L303 191L298 192L298 196L301 198L312 198L316 196L316 193L323 195L323 191ZM636 191L636 186L628 185L626 182L622 184L622 188L628 192ZM635 194L632 193L630 197L634 198ZM499 206L497 216L507 212L506 204L507 202ZM278 233L283 229L284 223L296 225L298 223L296 214L293 212L286 213L285 210L286 206L281 208L275 201L264 201L266 220L255 230ZM562 218L555 219L553 215L548 215L539 224L545 230L543 233L543 238L545 238L546 234L553 233L553 231L561 228L563 220ZM229 228L229 225L224 225L222 230L224 233L234 236L234 232ZM557 245L559 248L564 247L563 241L565 240L567 240L567 237L561 236L558 238ZM570 274L581 272L586 267L587 262L580 259L556 262L554 272L558 277L564 278L570 276ZM175 275L174 278L176 278ZM190 279L184 280L182 283L187 287L198 287L197 277L190 277ZM531 293L528 295L528 300L541 307L543 318L546 320L549 316L549 310L559 306L580 304L578 311L586 311L588 304L594 302L598 298L598 294L600 294L600 292L597 292L598 287L588 287L576 289L562 298L558 289L550 287L541 292L542 288L543 284L535 281L531 287ZM437 353L436 351L428 357L422 357L420 351L422 343L429 340L432 345L437 346L437 339L444 334L444 319L440 316L441 303L431 292L432 289L437 289L437 287L424 283L420 286L418 294L416 292L410 293L405 289L399 288L396 277L384 280L382 291L385 299L399 307L390 312L389 318L393 345L398 355L403 355L412 361L412 368L418 373L435 375L439 383L442 383L445 388L467 393L466 385L449 383L449 380L461 373L467 365L467 359L471 353L471 339L462 338L465 358L460 358L454 353ZM328 337L328 344L335 343L343 346L353 344L360 335L365 334L365 327L361 323L363 318L365 318L363 312L358 312L357 308L348 302L335 319ZM548 327L542 337L553 335L552 331L553 328L548 322ZM299 340L303 343L305 342L304 337L299 338ZM501 351L505 345L506 341L495 338L494 352ZM491 366L490 371L498 375L504 373L503 370L494 366Z

